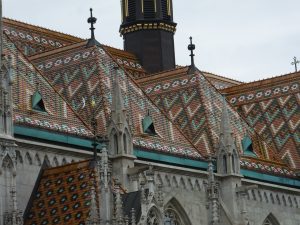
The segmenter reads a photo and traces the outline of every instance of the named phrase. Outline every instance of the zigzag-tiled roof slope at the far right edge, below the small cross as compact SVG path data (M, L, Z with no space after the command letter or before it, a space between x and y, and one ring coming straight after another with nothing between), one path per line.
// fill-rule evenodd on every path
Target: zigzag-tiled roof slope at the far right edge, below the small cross
M222 92L279 158L300 168L300 72Z

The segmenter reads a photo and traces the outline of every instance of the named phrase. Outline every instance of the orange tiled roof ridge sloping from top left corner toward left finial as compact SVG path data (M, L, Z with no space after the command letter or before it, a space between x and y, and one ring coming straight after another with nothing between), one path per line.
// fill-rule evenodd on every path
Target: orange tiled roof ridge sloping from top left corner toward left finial
M32 28L34 30L39 31L39 32L44 32L44 33L51 32L52 35L56 34L58 36L68 38L69 40L73 39L73 41L75 41L76 39L77 39L77 41L83 40L82 38L74 36L74 35L71 35L71 34L66 34L66 33L63 33L63 32L60 32L60 31L48 29L48 28L45 28L45 27L42 27L42 26L38 26L38 25L33 25L33 24L30 24L30 23L26 23L26 22L23 22L23 21L16 20L16 19L11 19L11 18L4 17L3 18L3 22L4 23L5 22L7 22L7 23L14 23L16 26L20 26L20 27L21 27L21 25L23 25L23 26L25 25L25 26L28 26L28 28L30 27L30 28Z

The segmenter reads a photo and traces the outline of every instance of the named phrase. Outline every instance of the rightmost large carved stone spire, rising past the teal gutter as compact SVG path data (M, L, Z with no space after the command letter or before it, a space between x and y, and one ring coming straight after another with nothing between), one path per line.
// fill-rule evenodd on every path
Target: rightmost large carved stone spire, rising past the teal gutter
M238 175L240 174L240 157L233 138L227 107L224 97L219 146L217 150L218 173L222 175Z

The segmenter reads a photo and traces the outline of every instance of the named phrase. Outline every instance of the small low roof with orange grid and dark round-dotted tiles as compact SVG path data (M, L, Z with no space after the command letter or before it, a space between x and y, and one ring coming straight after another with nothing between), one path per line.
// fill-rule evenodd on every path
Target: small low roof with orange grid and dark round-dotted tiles
M91 189L98 185L94 185L95 174L90 160L42 169L24 214L24 224L86 224Z

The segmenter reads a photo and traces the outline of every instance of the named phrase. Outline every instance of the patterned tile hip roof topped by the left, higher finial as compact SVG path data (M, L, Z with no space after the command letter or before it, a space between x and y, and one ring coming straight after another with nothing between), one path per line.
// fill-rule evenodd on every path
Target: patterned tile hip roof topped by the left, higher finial
M135 146L182 157L201 158L193 144L146 96L118 60L102 47L85 47L86 42L42 53L30 59L61 95L72 104L80 117L90 124L91 115L98 119L99 135L106 135L112 102L112 83L119 79L128 117L132 121ZM114 67L119 65L119 69ZM96 102L96 108L91 102ZM150 110L157 135L142 131L142 119Z

